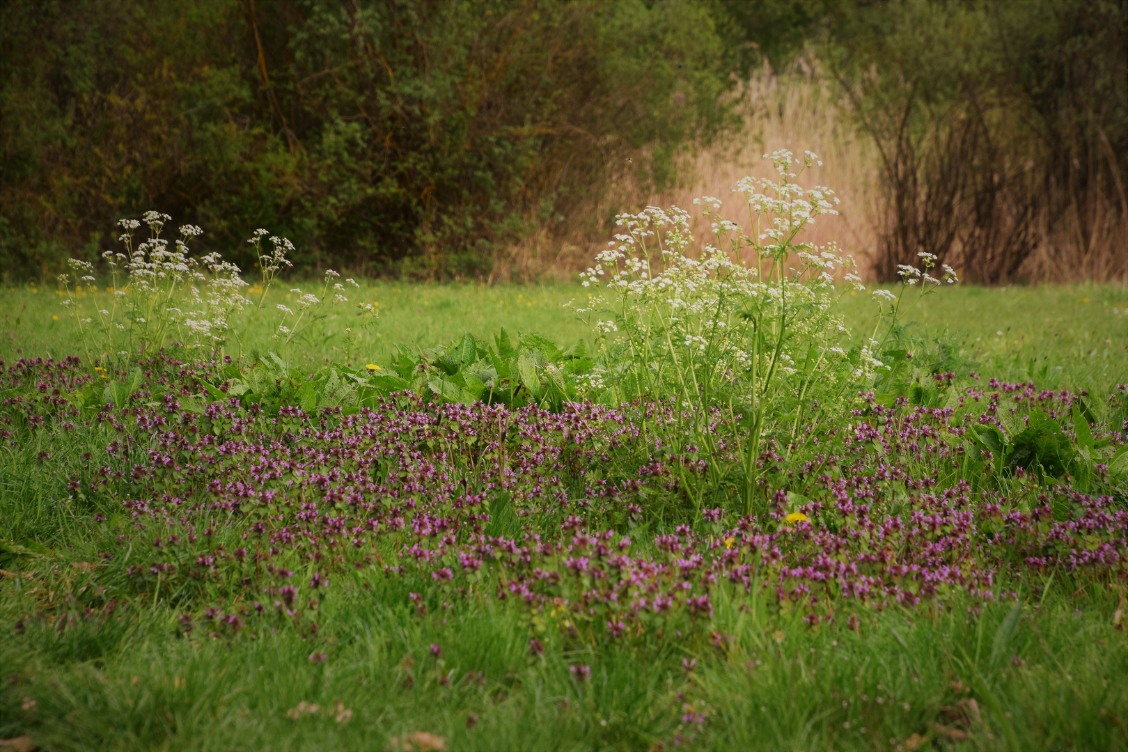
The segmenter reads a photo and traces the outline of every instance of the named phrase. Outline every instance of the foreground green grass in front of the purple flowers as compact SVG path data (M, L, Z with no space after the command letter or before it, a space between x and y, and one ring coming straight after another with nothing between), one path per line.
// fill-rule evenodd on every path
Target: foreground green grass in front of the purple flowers
M978 619L892 611L857 630L818 631L722 608L726 653L668 639L645 660L614 645L565 653L547 637L539 658L512 612L455 611L453 629L440 632L378 595L353 594L320 614L335 637L314 663L292 632L176 638L175 614L157 609L80 635L38 625L0 647L14 672L0 690L0 729L79 750L370 750L413 731L466 750L645 750L679 734L693 734L694 749L896 750L922 732L946 746L935 724L951 727L952 708L975 697L982 720L961 749L1128 749L1128 640L1112 626L1116 599L1090 586L1077 610L1077 595L1028 599L1013 630L1010 604ZM6 623L18 608L7 599ZM442 640L441 658L432 640ZM687 656L698 660L688 674ZM592 665L591 679L574 681L570 663ZM301 701L320 713L287 717ZM337 702L350 720L335 720ZM689 711L708 723L685 724Z

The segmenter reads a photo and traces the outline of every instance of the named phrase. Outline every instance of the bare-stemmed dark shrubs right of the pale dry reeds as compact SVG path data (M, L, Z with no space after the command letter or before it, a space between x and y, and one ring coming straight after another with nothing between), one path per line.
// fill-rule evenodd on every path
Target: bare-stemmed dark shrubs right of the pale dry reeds
M879 278L919 251L987 284L1128 273L1128 7L825 6L823 57L880 154Z

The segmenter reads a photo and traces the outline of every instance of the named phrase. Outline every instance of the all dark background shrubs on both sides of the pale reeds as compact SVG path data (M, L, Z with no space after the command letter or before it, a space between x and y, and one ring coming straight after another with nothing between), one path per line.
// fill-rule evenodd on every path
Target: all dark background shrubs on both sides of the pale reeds
M535 232L601 235L623 200L610 185L670 183L684 147L732 122L725 90L804 46L876 145L879 277L920 250L984 283L1128 268L1122 3L89 0L0 14L9 277L92 259L111 220L155 206L211 228L210 250L270 227L299 268L485 276Z

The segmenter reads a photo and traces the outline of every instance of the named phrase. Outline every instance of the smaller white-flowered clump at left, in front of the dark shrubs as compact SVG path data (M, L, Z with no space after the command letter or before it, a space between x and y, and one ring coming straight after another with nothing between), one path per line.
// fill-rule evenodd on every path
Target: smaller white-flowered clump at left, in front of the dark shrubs
M293 251L293 245L287 238L255 230L247 242L255 249L262 280L252 286L243 278L241 269L220 254L199 258L191 255L188 244L203 235L199 227L182 224L179 237L169 245L160 236L171 219L149 211L140 221L118 222L124 230L118 238L123 249L103 254L109 274L105 289L99 290L90 262L71 258L69 264L77 278L59 275L67 292L62 304L70 311L88 359L144 357L174 340L209 355L232 345L241 352L247 328L267 308L267 292L280 281L280 273L292 266L287 254ZM144 239L136 237L142 223L149 229ZM275 306L275 348L283 350L315 321L324 319L328 309L349 302L343 294L345 284L360 285L353 280L338 282L340 277L333 269L327 271L317 293L291 289L297 311L283 303ZM83 306L90 293L94 311ZM371 304L359 306L365 321L376 316ZM240 317L244 312L250 316ZM343 334L350 343L352 330Z

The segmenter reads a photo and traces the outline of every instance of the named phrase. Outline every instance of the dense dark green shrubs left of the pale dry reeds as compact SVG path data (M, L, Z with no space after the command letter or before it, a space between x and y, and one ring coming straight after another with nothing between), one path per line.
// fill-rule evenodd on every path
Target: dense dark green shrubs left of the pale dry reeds
M112 221L153 206L208 227L209 250L265 225L296 241L302 267L474 275L626 169L669 180L679 144L720 117L720 42L697 3L91 0L0 14L11 276L56 272L83 248L92 260Z

